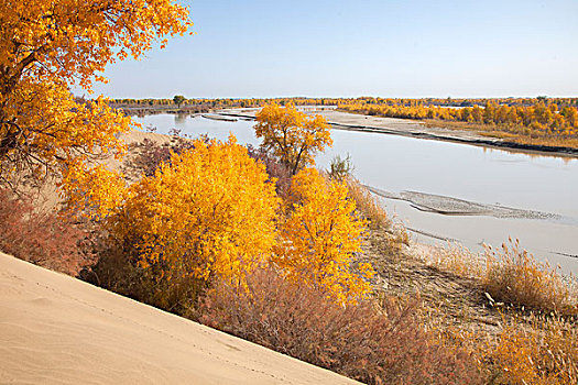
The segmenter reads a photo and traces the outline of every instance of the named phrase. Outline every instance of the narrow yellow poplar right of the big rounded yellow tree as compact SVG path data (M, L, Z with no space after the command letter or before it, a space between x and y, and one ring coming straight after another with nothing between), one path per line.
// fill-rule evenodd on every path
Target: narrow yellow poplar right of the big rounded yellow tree
M288 279L321 289L343 304L370 293L372 267L353 266L366 222L347 199L346 184L326 182L315 168L304 168L293 177L291 189L297 204L281 228L273 261Z

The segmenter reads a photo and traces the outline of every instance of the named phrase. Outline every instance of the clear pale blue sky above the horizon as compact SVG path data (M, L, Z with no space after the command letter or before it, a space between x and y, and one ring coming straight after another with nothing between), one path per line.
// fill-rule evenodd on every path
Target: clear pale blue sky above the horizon
M578 0L181 3L196 35L109 66L97 94L578 96Z

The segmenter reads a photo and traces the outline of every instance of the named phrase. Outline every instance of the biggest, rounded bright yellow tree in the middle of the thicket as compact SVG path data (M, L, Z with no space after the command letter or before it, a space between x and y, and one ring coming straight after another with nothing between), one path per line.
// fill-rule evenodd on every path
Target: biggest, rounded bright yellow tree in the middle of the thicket
M130 186L116 212L106 199L95 201L111 234L159 279L218 274L240 282L269 260L275 242L279 198L268 179L235 136L197 140Z

